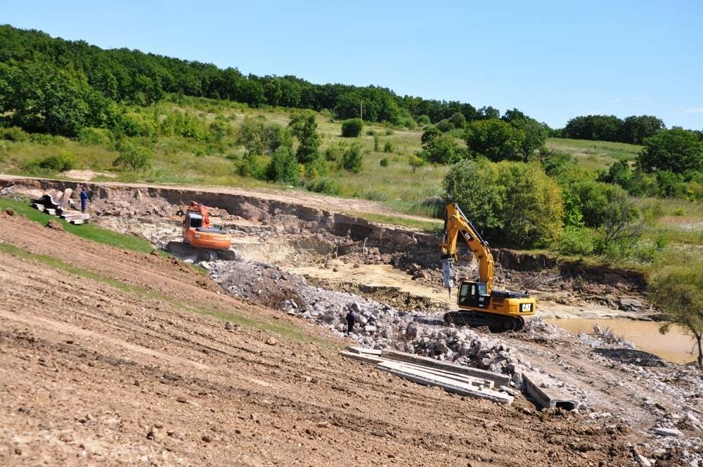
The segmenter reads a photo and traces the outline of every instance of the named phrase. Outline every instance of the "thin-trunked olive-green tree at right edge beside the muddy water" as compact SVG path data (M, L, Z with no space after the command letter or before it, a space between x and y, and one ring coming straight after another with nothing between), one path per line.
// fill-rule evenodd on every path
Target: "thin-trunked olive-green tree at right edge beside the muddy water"
M667 321L659 331L667 333L677 324L690 333L697 345L698 369L703 371L703 258L680 249L664 255L652 267L647 288Z

